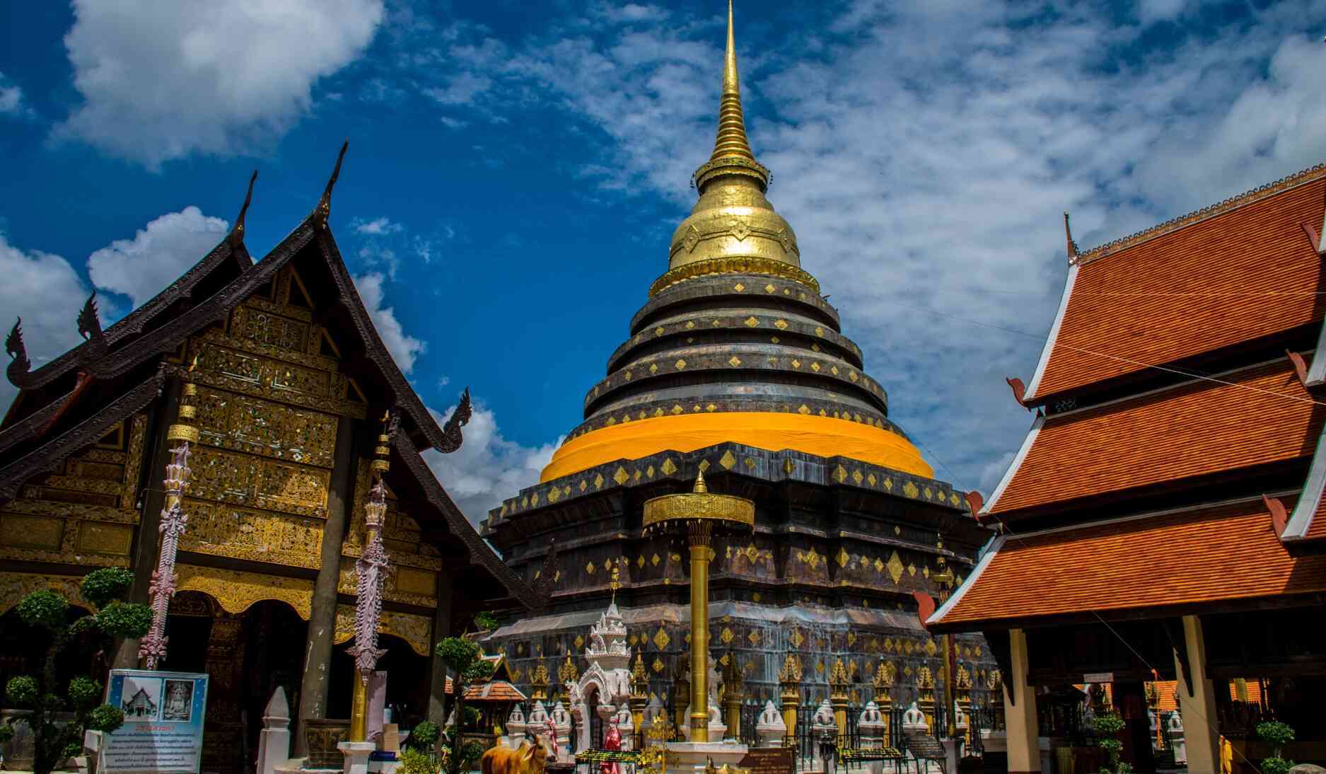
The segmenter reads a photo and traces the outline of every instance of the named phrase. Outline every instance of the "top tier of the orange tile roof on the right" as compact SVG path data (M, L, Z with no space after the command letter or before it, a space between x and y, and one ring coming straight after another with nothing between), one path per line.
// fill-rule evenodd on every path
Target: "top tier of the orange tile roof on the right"
M1313 295L1326 166L1079 259L1053 349L1029 392L1049 396L1322 319ZM1281 293L1256 297L1249 293ZM1029 394L1029 397L1032 397Z

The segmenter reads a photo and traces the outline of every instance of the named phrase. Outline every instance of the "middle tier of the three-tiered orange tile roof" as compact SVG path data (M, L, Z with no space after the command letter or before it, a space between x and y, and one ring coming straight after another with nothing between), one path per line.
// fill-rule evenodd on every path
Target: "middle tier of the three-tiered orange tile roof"
M1288 360L1038 420L989 512L1306 457L1326 420ZM1256 392L1268 390L1268 392ZM1272 394L1268 394L1272 393Z

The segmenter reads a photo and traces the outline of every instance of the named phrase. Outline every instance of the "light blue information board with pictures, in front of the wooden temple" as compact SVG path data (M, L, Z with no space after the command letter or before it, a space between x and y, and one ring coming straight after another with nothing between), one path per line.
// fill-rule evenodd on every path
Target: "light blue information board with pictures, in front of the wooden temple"
M102 750L106 774L196 774L203 762L207 674L111 669L106 704L125 713Z

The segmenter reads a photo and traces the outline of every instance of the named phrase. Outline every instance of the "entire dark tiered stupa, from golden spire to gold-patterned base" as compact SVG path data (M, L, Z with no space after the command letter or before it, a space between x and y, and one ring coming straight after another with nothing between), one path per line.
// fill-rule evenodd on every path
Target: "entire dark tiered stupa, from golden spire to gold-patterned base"
M777 704L790 656L801 701L943 705L963 681L981 702L998 680L983 640L926 632L914 595L961 583L991 532L890 420L883 385L765 196L770 173L745 131L731 8L728 21L717 139L667 271L541 481L481 524L549 600L537 615L505 616L485 648L505 652L526 692L536 674L574 680L585 635L619 584L633 664L680 713L688 552L644 535L642 504L691 491L703 471L709 491L757 508L753 534L715 539L709 570L711 655L723 668L736 660L745 701Z

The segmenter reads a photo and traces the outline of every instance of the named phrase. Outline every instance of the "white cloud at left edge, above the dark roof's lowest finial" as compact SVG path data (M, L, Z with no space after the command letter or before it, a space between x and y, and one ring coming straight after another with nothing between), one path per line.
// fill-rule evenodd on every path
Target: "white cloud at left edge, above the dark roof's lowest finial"
M37 250L24 251L0 234L0 336L8 335L15 317L23 317L23 339L32 366L62 354L77 345L78 311L90 289L58 255ZM8 378L0 376L0 406L8 406L19 393Z

